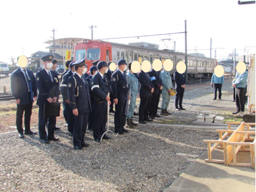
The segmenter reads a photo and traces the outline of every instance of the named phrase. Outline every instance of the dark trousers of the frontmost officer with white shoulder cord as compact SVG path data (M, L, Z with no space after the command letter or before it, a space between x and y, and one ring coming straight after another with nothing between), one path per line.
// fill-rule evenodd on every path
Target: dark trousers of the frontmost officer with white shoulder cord
M87 128L89 113L79 113L78 116L75 115L75 123L73 130L73 144L74 146L81 147L82 144L85 144L85 132Z

